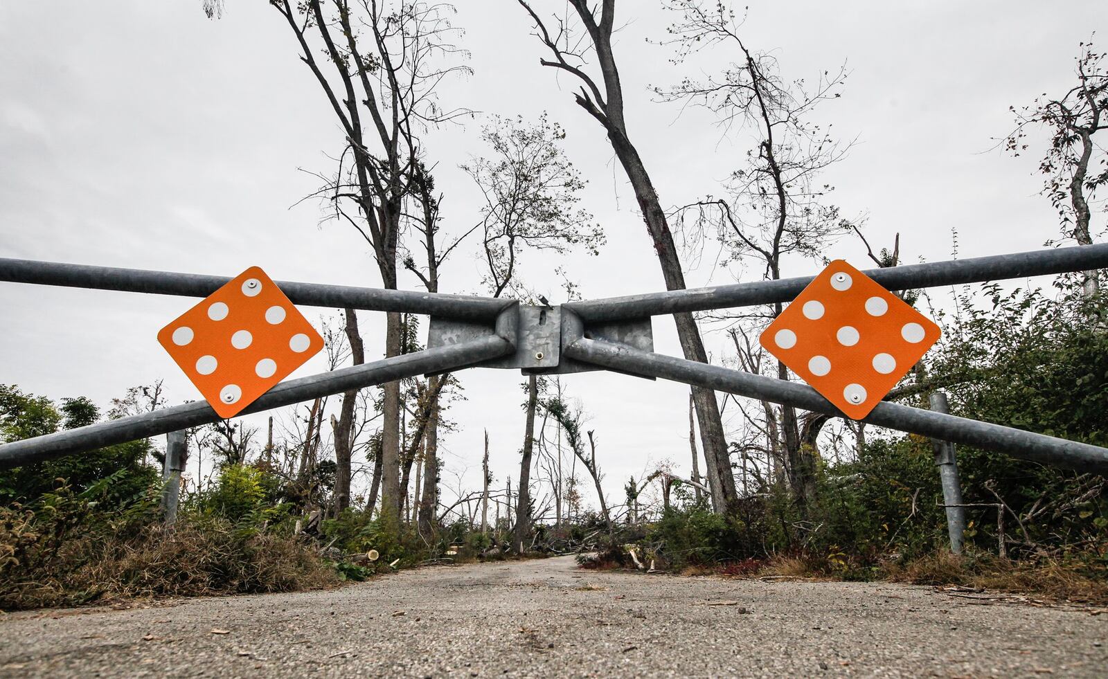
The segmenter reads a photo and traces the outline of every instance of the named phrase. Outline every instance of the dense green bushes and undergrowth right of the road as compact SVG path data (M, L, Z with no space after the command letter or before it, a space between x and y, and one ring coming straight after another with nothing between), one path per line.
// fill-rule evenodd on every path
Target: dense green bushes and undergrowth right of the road
M953 414L1108 444L1108 333L1079 286L960 295L946 341L919 367ZM1104 302L1096 302L1102 305ZM925 408L924 392L904 399ZM829 459L830 457L830 459ZM957 447L966 549L950 554L931 442L871 438L819 459L803 512L782 479L758 476L731 517L673 491L671 507L630 537L644 567L680 573L889 578L1108 601L1108 481L1003 453ZM616 541L595 566L635 568Z

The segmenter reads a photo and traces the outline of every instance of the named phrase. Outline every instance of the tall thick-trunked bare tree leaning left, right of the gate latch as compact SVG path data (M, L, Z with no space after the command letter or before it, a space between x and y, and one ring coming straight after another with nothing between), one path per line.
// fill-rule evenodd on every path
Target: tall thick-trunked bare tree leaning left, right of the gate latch
M669 230L666 212L661 207L654 182L647 172L646 164L638 154L627 132L624 116L623 85L619 81L619 70L616 66L615 52L612 48L612 33L615 28L615 0L603 0L598 4L588 0L567 0L570 8L584 29L583 35L575 32L567 21L555 16L551 25L543 21L525 0L517 0L520 6L531 16L536 27L536 34L543 45L550 51L552 59L541 59L540 63L575 76L581 89L575 94L577 105L593 116L607 133L608 141L616 157L627 174L635 197L638 200L646 223L647 233L654 244L661 267L666 289L679 290L685 286L685 274L680 257ZM599 80L588 73L585 55L594 53L598 62ZM686 359L708 362L700 330L691 313L675 313L677 333L681 351ZM695 388L694 398L697 404L697 416L700 421L700 439L705 452L705 462L709 485L712 490L712 503L718 512L730 511L735 506L737 494L735 477L727 453L727 442L724 438L724 424L716 402L715 392L709 389Z

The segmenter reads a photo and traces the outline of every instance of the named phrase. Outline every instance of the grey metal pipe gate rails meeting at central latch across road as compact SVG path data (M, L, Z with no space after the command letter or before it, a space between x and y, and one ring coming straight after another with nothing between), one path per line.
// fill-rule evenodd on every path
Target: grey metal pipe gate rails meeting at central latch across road
M864 274L889 290L903 290L1104 268L1108 268L1108 244L870 269ZM0 258L0 281L10 282L206 297L228 280L218 276ZM432 317L432 321L438 319L440 326L458 322L465 331L442 335L440 346L420 352L281 382L247 407L243 414L481 363L523 367L524 372L556 373L570 370L571 363L577 362L586 364L586 369L599 368L675 380L845 418L807 384L644 350L653 341L649 337L652 316L789 301L811 280L812 277L789 278L563 304L556 315L561 325L560 354L571 361L550 361L553 364L543 368L534 368L535 360L544 358L543 352L534 348L548 346L552 328L536 327L531 319L545 319L546 315L531 311L554 307L525 307L514 300L485 297L277 281L294 304L425 313ZM521 322L524 319L526 322ZM496 360L505 357L514 358L510 361ZM206 402L198 401L99 422L0 444L0 469L78 454L218 420L220 418ZM1045 464L1108 474L1108 449L957 418L935 410L882 402L863 422L952 443L972 444Z

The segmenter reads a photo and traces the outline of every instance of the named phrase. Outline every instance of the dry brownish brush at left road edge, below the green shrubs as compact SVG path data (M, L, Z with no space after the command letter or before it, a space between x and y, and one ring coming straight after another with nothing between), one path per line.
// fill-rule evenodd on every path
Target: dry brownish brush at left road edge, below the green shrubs
M116 596L290 591L337 582L315 548L288 531L244 531L187 510L166 528L153 493L122 510L100 508L96 497L110 485L82 493L62 485L33 503L0 507L0 609Z

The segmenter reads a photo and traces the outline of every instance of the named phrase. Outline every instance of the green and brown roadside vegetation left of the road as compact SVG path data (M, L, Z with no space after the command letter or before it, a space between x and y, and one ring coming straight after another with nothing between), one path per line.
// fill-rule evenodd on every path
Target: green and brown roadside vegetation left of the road
M109 416L127 412L144 392L151 390L132 390ZM57 404L0 384L2 441L99 419L88 399ZM289 481L260 451L227 456L223 450L208 483L183 495L172 525L161 506L164 453L150 441L0 472L0 610L295 591L423 563L499 556L489 549L493 538L464 522L435 523L430 542L412 526L398 541L373 512L346 508L335 516L334 463ZM505 525L497 534L506 546Z

